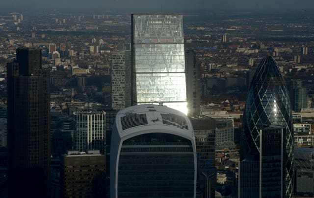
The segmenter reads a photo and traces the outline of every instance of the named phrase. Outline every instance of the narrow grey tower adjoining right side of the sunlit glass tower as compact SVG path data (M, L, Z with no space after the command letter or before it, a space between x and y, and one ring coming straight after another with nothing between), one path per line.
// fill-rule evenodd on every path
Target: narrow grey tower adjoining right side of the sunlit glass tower
M186 50L184 58L187 115L199 116L201 111L201 65L196 62L193 50Z

